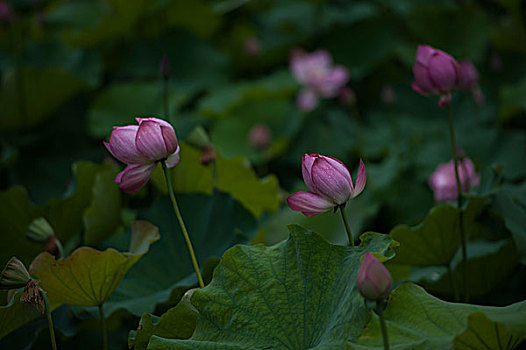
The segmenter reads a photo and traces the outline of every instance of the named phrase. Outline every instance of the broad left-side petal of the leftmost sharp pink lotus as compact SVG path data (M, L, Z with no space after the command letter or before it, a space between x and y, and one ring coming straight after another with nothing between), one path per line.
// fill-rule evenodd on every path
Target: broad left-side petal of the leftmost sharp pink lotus
M104 146L115 158L123 163L148 163L148 159L135 146L135 137L138 129L137 125L114 127L110 136L110 142L104 142Z

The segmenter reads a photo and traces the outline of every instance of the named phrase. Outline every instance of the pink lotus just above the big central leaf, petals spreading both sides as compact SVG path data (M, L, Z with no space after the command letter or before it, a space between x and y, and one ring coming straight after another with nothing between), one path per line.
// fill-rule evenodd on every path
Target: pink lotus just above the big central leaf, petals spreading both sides
M318 215L345 204L363 191L367 180L361 159L355 185L345 165L332 157L304 154L302 172L309 191L299 191L290 195L287 203L290 209L306 216Z

